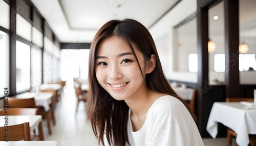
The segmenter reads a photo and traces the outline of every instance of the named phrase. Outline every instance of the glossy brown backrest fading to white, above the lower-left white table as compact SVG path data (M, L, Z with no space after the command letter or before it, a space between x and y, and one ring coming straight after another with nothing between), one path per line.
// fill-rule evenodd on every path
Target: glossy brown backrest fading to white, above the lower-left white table
M0 109L0 115L37 115L37 108L8 108Z

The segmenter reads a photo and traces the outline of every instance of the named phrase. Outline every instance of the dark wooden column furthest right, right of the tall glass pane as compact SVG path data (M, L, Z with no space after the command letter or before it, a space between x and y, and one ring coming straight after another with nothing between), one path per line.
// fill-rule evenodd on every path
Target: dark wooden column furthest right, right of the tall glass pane
M226 97L240 96L239 83L239 0L224 0Z

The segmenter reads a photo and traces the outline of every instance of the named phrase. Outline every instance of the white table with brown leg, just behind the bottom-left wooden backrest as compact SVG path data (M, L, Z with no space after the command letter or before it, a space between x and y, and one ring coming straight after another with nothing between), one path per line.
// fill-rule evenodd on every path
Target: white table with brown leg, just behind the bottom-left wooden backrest
M8 126L29 122L30 133L34 133L34 130L38 128L40 140L45 139L44 132L42 131L41 115L3 115L0 116L0 126L6 124L6 118L8 119Z

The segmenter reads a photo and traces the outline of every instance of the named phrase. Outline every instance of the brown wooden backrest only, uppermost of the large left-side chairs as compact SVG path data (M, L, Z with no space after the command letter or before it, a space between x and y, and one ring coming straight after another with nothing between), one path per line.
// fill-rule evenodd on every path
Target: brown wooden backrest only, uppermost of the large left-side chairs
M35 108L35 99L8 98L8 108Z

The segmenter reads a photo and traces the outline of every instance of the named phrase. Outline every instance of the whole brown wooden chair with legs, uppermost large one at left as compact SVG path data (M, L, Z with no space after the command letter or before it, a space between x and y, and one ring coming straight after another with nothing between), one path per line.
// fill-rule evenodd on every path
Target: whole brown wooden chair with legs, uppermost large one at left
M47 120L48 132L51 135L51 118L50 118L50 110L45 111L44 107L35 106L35 99L16 99L16 98L8 98L8 108L38 108L38 115L41 115L42 118Z

